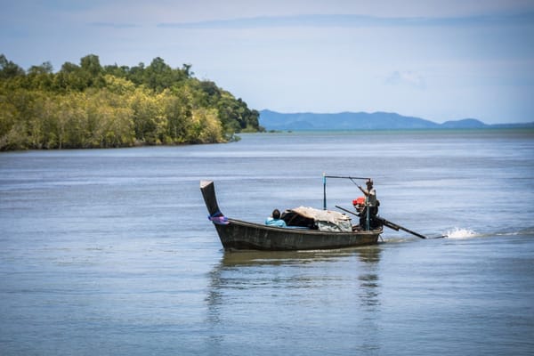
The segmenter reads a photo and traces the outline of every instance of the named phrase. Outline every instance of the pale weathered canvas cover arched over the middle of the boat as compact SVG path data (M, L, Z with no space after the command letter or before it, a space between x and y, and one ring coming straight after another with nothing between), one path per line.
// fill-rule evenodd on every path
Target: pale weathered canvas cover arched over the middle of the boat
M302 226L320 231L352 231L351 218L331 210L299 206L286 210L282 214L282 219L286 221L288 226Z

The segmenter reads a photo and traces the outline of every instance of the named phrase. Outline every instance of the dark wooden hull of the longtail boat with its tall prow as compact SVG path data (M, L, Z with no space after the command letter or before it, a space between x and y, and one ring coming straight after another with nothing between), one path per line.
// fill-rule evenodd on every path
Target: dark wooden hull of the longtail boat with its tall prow
M221 216L215 197L214 182L200 182L200 190L209 214ZM376 244L382 233L382 229L329 232L279 228L231 218L224 223L214 223L214 226L224 249L227 250L287 251L358 247Z

